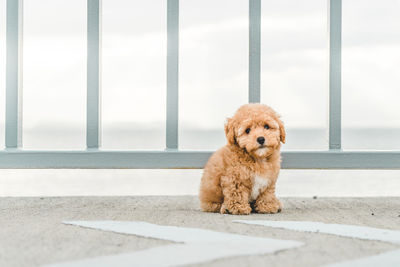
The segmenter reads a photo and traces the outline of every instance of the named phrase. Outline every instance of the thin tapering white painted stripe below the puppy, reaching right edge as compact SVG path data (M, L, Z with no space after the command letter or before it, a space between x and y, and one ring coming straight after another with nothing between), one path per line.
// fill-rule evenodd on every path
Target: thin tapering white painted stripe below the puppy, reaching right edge
M400 244L400 231L367 226L307 221L235 220L233 222Z

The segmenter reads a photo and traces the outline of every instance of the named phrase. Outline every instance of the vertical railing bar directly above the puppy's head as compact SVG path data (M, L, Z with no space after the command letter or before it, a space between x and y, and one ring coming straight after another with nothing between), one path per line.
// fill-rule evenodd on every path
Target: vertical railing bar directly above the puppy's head
M260 102L261 0L249 0L249 103Z

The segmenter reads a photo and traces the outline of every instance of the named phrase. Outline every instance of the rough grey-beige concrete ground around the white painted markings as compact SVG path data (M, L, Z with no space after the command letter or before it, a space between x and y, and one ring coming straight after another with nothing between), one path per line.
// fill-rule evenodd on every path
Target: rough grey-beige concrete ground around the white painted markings
M319 221L400 230L400 198L281 200L285 208L280 214L233 216L201 212L194 196L0 198L0 266L38 266L171 243L62 224L68 220L146 221L305 243L274 254L233 257L196 266L320 266L400 248L380 241L232 222Z

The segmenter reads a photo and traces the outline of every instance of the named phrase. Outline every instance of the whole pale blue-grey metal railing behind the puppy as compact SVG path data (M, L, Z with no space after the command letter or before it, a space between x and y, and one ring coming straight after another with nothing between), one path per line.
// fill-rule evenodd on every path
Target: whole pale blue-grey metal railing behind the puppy
M212 151L178 146L179 0L167 0L166 149L100 150L101 0L87 0L87 149L22 150L22 0L7 0L6 148L0 168L202 168ZM398 151L341 150L341 0L329 3L329 150L283 152L283 168L400 168ZM260 101L261 0L249 0L249 102Z

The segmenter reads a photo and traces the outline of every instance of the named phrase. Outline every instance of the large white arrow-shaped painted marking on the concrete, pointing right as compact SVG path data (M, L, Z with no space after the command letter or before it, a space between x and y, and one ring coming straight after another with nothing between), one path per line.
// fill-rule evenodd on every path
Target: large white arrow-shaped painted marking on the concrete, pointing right
M182 244L171 244L132 253L102 256L50 266L179 266L226 257L273 253L303 245L301 242L291 240L244 236L197 228L162 226L146 222L68 221L64 223Z

